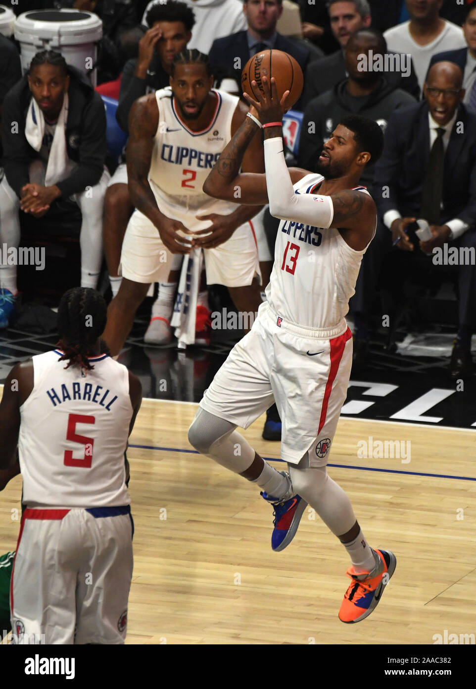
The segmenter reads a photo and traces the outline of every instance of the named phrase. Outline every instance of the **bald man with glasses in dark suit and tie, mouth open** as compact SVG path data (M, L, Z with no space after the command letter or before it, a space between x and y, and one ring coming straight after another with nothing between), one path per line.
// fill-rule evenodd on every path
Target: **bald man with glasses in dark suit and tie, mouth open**
M442 263L458 266L459 329L450 371L460 378L473 368L470 341L476 326L476 115L462 103L462 71L454 63L433 65L424 96L426 101L401 108L389 121L374 199L391 230L380 227L380 232L396 245L388 279L396 296L404 290L402 276L416 264L431 273ZM415 236L417 218L429 223L430 240Z

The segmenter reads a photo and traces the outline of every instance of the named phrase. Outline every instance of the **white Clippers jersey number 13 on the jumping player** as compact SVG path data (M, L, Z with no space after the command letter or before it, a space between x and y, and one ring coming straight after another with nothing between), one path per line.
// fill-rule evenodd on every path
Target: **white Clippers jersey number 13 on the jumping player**
M294 193L318 194L316 187L323 180L320 174L306 175L294 185ZM369 194L364 187L356 189ZM367 247L354 251L332 227L281 220L266 288L271 308L281 318L305 328L336 327L349 311Z

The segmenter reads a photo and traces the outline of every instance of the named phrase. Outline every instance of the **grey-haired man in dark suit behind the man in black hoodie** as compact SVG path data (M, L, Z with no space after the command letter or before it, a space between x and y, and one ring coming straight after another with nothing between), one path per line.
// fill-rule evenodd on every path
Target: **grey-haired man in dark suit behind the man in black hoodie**
M367 0L330 0L329 17L334 36L340 43L340 50L316 60L309 66L304 80L304 92L301 97L305 107L309 101L325 91L329 91L347 76L344 51L351 34L358 29L371 25L370 6ZM387 50L387 48L385 48ZM393 89L401 88L420 98L420 87L415 75L413 61L410 70L387 72L385 78Z

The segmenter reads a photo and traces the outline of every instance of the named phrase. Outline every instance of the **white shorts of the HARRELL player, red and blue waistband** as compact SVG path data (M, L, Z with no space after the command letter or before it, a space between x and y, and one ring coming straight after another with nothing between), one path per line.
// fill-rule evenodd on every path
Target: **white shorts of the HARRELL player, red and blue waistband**
M10 583L13 642L124 644L132 534L129 506L27 508Z

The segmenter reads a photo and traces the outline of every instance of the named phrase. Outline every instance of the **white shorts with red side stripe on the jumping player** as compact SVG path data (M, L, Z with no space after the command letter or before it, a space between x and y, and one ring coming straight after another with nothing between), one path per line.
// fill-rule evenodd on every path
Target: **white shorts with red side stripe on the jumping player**
M250 332L228 355L200 407L248 428L273 401L282 422L281 457L325 466L347 395L352 335L286 322L264 302Z

